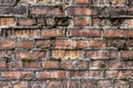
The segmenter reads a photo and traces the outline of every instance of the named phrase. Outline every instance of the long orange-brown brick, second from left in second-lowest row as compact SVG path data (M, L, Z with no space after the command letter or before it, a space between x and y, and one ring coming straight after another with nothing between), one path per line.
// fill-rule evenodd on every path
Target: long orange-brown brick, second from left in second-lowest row
M65 70L37 72L37 78L65 78Z

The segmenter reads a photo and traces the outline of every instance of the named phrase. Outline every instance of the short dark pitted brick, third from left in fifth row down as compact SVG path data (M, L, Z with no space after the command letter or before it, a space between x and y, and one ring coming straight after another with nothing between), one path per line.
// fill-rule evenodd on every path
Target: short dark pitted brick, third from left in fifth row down
M51 47L51 41L50 40L35 40L35 46L38 48Z

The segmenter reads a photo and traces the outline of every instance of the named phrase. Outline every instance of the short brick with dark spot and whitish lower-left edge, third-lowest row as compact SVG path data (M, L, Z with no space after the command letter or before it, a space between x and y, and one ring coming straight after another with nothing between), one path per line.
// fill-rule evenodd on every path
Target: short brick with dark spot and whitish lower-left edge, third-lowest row
M94 69L104 69L106 67L108 67L108 65L106 65L105 61L92 61L91 68L94 68Z

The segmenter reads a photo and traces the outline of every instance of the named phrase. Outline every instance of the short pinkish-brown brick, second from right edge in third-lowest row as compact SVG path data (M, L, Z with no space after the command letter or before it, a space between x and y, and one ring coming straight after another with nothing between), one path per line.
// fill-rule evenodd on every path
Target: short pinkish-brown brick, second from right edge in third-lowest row
M121 61L110 61L109 68L117 69L117 68L125 68L124 62Z

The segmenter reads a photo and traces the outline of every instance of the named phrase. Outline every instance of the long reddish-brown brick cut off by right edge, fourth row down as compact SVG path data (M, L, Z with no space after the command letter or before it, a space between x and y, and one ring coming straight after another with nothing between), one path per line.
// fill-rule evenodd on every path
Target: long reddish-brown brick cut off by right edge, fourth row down
M133 37L133 30L105 30L104 37Z

